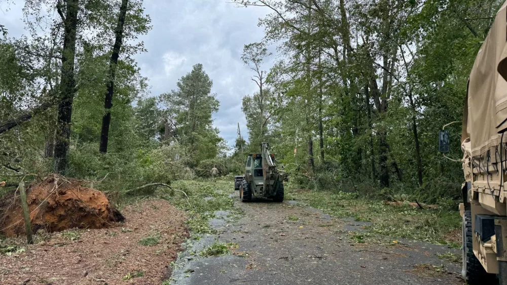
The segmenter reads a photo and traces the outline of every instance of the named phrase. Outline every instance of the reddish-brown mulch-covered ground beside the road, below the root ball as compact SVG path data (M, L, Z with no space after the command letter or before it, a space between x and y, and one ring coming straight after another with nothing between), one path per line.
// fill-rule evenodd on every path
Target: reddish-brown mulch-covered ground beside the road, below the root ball
M41 232L38 239L43 241L21 245L25 252L0 255L0 284L161 284L170 277L169 265L188 237L185 214L159 199L122 212L125 222L117 227L77 230L77 240ZM158 243L140 245L147 237Z

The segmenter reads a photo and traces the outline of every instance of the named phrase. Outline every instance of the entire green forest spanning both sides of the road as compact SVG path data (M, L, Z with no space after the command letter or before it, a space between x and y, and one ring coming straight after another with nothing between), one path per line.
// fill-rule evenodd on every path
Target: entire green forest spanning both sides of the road
M0 178L15 188L56 172L121 194L212 165L240 174L267 141L295 187L459 195L461 164L438 152L437 133L461 120L503 1L232 2L272 13L259 22L263 41L243 51L259 91L243 99L248 142L230 150L212 126L219 102L201 64L176 90L149 93L133 59L151 30L142 0L25 1L27 35L9 37L0 22ZM461 158L461 125L448 128Z

